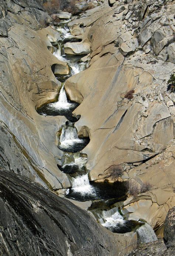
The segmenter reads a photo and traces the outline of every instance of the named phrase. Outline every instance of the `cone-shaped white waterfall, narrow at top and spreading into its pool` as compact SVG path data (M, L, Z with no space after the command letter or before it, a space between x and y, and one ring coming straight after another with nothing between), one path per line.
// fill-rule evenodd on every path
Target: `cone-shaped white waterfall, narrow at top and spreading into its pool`
M68 100L67 100L66 93L64 90L64 85L62 86L62 88L59 92L58 101L50 104L50 106L54 107L55 109L68 109L72 105L73 104L68 102Z

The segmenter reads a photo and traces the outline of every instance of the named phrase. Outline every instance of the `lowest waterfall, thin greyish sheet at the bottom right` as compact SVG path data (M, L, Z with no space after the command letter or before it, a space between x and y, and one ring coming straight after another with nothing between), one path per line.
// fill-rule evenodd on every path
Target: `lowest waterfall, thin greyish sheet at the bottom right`
M147 223L138 228L136 232L141 243L157 241L157 236L155 235L154 230Z

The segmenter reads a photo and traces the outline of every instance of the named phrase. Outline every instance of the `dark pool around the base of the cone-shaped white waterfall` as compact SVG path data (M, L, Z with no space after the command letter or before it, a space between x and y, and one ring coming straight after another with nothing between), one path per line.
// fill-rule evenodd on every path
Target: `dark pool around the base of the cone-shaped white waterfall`
M69 107L69 109L55 109L52 107L52 104L49 103L47 105L44 105L40 107L40 109L37 109L38 114L44 115L44 116L65 116L69 121L72 123L75 123L79 120L79 117L75 117L72 115L73 110L76 109L76 107L79 106L79 103L68 101L69 103L72 103L72 106Z

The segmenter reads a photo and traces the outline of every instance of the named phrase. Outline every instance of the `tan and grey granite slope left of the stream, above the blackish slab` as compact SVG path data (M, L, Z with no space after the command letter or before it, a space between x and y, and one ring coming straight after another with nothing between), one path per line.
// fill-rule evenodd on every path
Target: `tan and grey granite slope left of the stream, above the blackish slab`
M59 33L47 27L52 19L35 1L0 1L0 6L1 165L47 188L70 187L55 161L62 156L55 134L66 119L35 110L58 99L61 83L52 67L56 74L69 73L49 51Z

